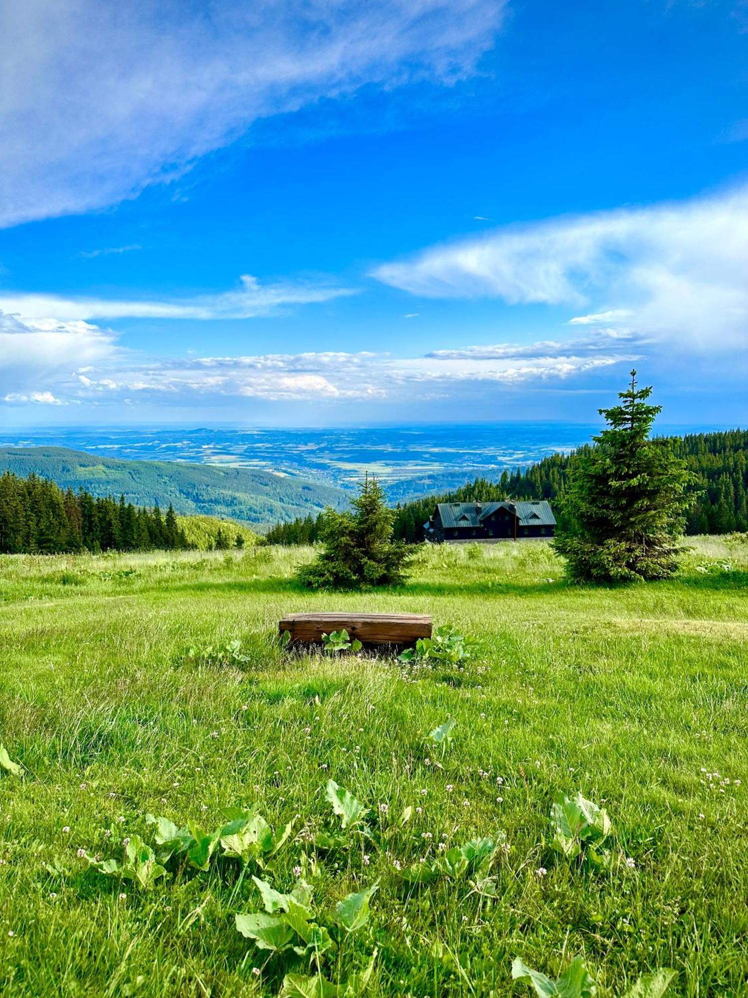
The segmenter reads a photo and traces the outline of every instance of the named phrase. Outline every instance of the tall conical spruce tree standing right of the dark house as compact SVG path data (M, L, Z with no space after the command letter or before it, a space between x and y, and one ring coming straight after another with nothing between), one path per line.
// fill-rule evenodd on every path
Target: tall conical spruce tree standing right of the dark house
M608 428L573 467L554 544L574 580L664 579L677 568L695 476L667 439L649 439L662 408L647 404L651 391L636 387L632 370L620 404L599 409Z

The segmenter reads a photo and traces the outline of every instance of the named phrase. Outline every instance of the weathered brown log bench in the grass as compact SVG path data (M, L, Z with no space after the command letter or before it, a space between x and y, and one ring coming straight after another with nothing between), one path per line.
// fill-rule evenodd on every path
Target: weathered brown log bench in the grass
M322 641L323 634L347 631L348 637L364 645L410 645L431 637L431 617L423 614L289 614L278 624L291 642Z

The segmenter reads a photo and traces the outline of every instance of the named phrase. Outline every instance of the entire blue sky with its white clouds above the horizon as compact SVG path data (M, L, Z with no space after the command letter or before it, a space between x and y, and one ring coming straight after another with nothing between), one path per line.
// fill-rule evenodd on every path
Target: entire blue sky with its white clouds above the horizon
M16 9L11 9L15 7ZM0 11L6 426L748 418L748 5Z

